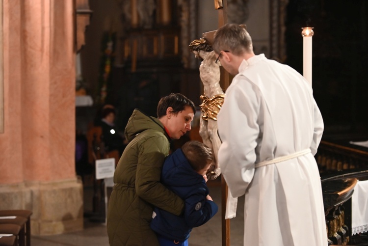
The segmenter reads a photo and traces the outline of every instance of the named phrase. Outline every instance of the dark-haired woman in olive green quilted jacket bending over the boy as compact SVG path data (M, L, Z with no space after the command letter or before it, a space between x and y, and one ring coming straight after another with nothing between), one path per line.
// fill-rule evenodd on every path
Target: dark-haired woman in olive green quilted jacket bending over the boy
M184 201L160 183L171 139L191 130L195 106L184 95L170 94L158 102L158 118L134 109L125 128L129 141L114 173L107 210L110 246L159 246L150 228L156 206L181 215Z

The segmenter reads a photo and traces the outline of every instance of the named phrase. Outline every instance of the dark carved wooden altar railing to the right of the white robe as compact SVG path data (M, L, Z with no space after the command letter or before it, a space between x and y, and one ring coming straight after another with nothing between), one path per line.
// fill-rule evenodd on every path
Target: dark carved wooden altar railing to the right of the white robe
M358 180L368 179L368 148L350 141L365 137L325 137L315 155L321 174L329 245L368 245L366 235L351 235L351 196Z

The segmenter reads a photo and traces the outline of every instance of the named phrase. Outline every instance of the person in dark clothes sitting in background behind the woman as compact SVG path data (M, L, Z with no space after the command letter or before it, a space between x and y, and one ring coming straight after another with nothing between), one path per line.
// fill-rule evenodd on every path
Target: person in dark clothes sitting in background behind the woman
M116 111L113 106L106 105L101 111L101 120L96 122L96 126L102 128L101 140L105 143L105 150L108 152L118 150L121 156L128 142L115 127L115 116Z

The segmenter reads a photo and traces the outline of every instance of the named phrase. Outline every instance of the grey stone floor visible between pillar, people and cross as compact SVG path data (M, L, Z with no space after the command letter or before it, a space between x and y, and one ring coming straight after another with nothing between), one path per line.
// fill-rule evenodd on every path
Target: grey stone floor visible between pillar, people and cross
M221 246L221 183L217 180L209 181L210 195L219 206L219 212L206 224L193 228L190 234L190 246ZM84 212L92 211L92 186L84 188ZM243 208L244 198L238 201L237 218L230 221L230 241L232 246L241 246L243 242ZM32 236L32 246L108 246L105 223L92 222L85 216L82 231L53 236Z

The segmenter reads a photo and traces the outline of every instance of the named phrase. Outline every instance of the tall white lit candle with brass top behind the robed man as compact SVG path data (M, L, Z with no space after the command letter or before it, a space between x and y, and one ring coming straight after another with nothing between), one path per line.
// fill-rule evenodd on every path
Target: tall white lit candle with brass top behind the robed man
M303 36L303 76L312 86L312 36L313 27L302 27Z

